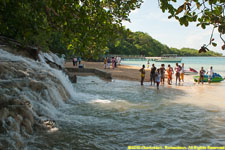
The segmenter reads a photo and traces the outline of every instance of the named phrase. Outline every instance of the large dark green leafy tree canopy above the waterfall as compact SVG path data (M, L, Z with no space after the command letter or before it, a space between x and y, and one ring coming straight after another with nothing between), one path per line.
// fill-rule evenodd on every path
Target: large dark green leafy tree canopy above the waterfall
M142 0L0 0L0 35L40 49L95 57Z

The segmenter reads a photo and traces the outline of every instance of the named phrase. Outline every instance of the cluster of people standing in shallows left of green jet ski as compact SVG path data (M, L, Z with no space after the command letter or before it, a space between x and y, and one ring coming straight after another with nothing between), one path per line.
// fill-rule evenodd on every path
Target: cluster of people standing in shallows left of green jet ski
M144 79L145 79L145 65L142 66L142 68L139 70L141 72L141 85L143 85ZM156 68L154 64L152 64L151 71L150 71L150 85L156 84L157 89L159 89L160 83L163 85L165 82L165 77L167 73L167 83L169 85L172 84L172 75L175 73L176 76L176 84L179 81L184 82L184 63L180 66L178 63L176 63L175 68L173 69L170 65L168 65L167 68L165 68L165 64L161 64L160 68Z

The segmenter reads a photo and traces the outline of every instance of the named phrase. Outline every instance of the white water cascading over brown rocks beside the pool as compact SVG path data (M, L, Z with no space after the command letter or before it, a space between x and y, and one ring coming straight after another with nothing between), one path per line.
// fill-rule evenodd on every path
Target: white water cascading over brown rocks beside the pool
M0 149L24 149L34 129L49 129L57 108L75 97L68 76L51 68L45 58L63 67L63 59L40 53L40 61L0 49ZM46 123L47 121L47 123Z

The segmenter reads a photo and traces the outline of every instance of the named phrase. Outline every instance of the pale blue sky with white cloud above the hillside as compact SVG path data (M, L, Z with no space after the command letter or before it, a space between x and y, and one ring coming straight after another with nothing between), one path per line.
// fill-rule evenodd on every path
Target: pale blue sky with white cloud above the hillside
M168 19L168 13L163 13L158 6L158 0L144 0L141 8L131 12L131 22L123 22L123 25L131 31L142 31L162 44L174 48L200 49L203 44L208 44L212 32L212 26L202 29L197 23L190 23L188 27L181 26L175 19ZM214 32L217 47L209 46L212 51L223 53L222 40L217 29Z

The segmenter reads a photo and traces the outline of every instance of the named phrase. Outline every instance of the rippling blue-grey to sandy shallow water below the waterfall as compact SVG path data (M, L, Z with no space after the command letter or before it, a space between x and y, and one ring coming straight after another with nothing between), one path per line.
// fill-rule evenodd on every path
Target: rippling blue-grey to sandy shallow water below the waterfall
M159 92L139 84L78 77L76 96L55 120L59 129L33 136L28 148L225 145L224 82L165 85Z

